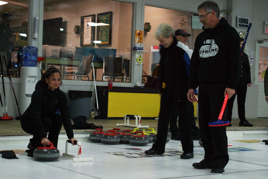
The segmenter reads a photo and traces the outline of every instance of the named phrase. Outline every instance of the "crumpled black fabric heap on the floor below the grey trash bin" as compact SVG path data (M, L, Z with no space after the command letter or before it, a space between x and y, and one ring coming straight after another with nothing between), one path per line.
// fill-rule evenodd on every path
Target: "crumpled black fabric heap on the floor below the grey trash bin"
M86 116L77 116L73 118L73 129L96 129L103 128L103 126L95 126L93 123L87 123Z

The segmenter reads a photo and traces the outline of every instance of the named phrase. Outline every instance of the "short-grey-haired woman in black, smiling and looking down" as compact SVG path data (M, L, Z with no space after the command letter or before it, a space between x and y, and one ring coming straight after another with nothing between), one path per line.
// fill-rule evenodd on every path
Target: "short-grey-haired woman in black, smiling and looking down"
M155 39L163 45L160 49L160 111L157 138L152 148L145 151L147 155L165 153L166 138L169 126L169 114L173 104L177 106L179 130L183 154L182 159L193 158L193 138L191 123L188 117L187 91L188 75L183 59L184 50L177 46L174 30L169 24L160 24L155 32ZM162 84L165 83L165 87Z

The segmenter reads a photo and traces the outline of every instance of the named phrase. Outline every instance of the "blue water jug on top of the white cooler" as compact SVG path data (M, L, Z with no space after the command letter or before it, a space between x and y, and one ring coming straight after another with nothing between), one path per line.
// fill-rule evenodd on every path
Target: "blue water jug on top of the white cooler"
M37 65L37 47L25 46L23 48L23 65L25 67L35 67Z

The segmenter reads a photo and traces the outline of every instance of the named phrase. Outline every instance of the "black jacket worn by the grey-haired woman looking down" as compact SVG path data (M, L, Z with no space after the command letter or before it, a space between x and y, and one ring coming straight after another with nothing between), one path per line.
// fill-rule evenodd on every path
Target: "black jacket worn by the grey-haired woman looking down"
M162 83L165 82L167 89L176 92L176 97L187 97L188 75L185 68L183 55L185 51L177 46L177 39L174 37L172 44L168 48L160 49L160 93L162 93Z

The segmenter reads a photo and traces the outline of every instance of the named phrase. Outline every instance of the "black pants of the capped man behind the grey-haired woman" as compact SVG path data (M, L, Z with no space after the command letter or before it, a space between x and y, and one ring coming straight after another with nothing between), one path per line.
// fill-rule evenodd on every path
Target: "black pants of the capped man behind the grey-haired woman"
M188 105L188 116L190 118L191 127L192 127L192 134L193 136L199 136L200 131L199 131L199 128L195 124L195 114L194 114L195 109L194 109L193 103L187 100L187 105ZM176 105L173 105L172 111L170 113L170 118L169 118L169 131L171 132L172 135L180 134L179 128L177 126L177 119L178 119L177 108L178 107L176 107Z

